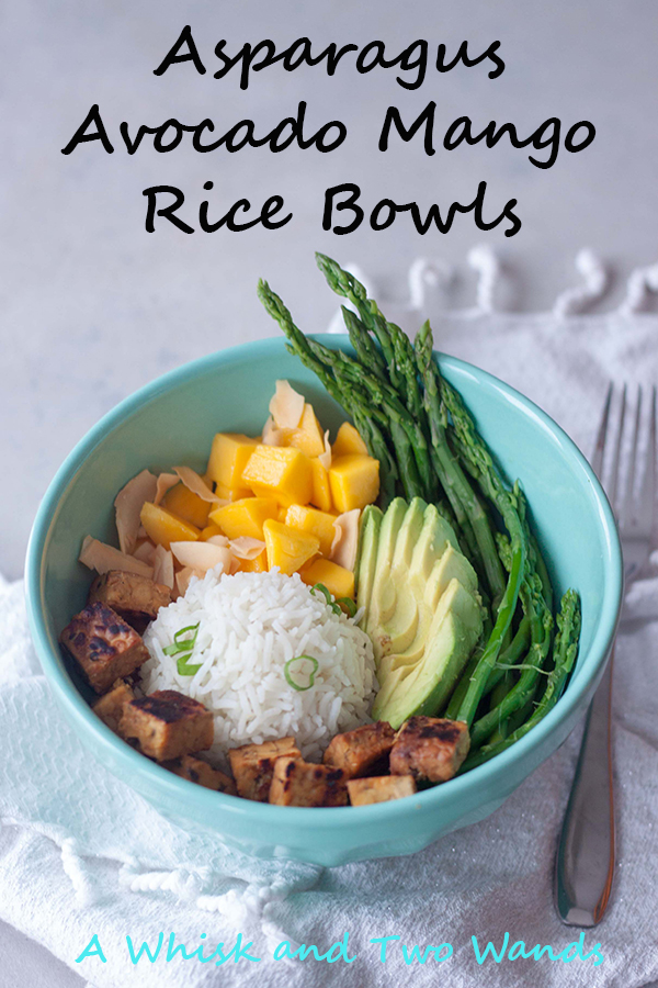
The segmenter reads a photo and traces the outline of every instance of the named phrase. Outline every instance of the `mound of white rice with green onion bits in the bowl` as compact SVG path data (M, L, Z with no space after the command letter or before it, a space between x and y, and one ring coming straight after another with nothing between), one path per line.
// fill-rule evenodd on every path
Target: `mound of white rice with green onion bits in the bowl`
M200 622L186 660L201 665L179 675L177 656L163 649L181 628ZM150 659L141 666L146 693L178 689L215 715L212 754L222 761L229 748L294 734L302 754L318 761L331 738L371 718L377 689L368 636L325 598L311 594L297 574L218 576L208 570L188 593L158 613L144 641ZM298 692L285 680L284 665L297 655L318 662L314 685ZM295 663L291 675L308 682L309 663Z

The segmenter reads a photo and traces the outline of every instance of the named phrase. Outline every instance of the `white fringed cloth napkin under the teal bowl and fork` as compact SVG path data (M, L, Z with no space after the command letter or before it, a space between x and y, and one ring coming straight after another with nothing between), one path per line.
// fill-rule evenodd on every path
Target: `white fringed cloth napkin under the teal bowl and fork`
M485 289L487 285L485 284ZM480 284L481 289L481 284ZM629 313L567 317L501 315L491 284L478 310L433 314L438 346L497 373L533 397L589 451L610 379L658 379L658 318ZM577 293L576 293L577 294ZM576 299L578 301L578 299ZM571 297L574 302L574 293ZM564 303L564 300L563 300ZM394 316L418 325L419 306ZM423 314L427 315L427 313ZM450 834L411 858L389 858L321 872L263 863L167 822L83 750L53 705L33 652L22 584L0 581L0 918L45 944L97 988L115 986L268 986L399 984L640 988L658 978L655 896L658 889L658 558L656 576L628 594L615 666L615 765L619 868L609 914L585 934L603 963L576 959L487 959L480 948L578 941L552 899L555 845L580 731L481 823ZM131 962L126 935L152 947L155 963ZM275 961L277 943L316 944L324 954L349 932L351 964L338 959ZM76 958L98 934L106 963ZM164 961L167 942L204 955L239 933L260 963ZM206 934L205 939L200 939ZM379 959L376 938L397 935ZM405 963L413 945L450 943L438 964ZM242 955L243 956L243 955ZM216 958L215 958L216 959ZM0 978L1 980L1 978Z

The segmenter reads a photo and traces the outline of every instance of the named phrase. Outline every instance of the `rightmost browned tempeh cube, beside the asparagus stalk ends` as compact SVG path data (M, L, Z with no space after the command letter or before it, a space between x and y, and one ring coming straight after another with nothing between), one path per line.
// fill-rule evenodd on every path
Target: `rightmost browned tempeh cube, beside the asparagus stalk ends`
M390 773L446 782L458 771L469 746L468 727L463 720L410 717L390 750Z

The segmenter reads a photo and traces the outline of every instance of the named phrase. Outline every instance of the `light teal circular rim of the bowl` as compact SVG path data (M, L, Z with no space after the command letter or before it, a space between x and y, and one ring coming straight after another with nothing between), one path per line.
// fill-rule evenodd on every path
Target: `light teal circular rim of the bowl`
M324 333L313 334L313 338L333 348L338 346L341 349L350 349L347 335L343 337L340 334ZM131 773L129 785L139 795L143 795L143 785L147 790L160 790L162 796L167 798L168 805L171 805L172 799L180 801L180 816L188 817L191 820L196 818L197 810L205 818L213 811L216 813L219 810L227 816L231 816L234 821L240 818L245 821L258 818L258 821L261 823L272 826L287 823L291 829L306 826L311 820L315 821L318 828L330 826L336 831L345 831L360 823L395 823L408 815L408 800L399 799L372 806L344 808L281 807L227 796L173 775L173 773L145 759L144 755L132 749L92 712L91 707L78 692L66 670L60 666L57 642L52 640L46 627L44 617L44 561L53 525L57 518L58 506L68 486L82 468L84 460L105 438L107 433L118 427L132 414L145 407L151 401L157 400L160 394L178 385L185 384L193 378L213 372L217 367L226 368L232 363L241 362L245 358L253 355L256 350L260 350L261 355L266 356L269 352L281 350L284 346L285 339L283 337L272 336L218 350L174 368L120 402L76 444L49 483L32 527L25 560L25 596L29 625L42 669L56 698L67 712L76 719L78 730L83 733L86 739L92 742L92 749L93 745L99 745L106 751L114 763L118 759L125 764L126 770ZM599 527L604 550L602 565L608 575L601 603L602 619L594 632L588 654L585 655L581 662L578 676L569 683L568 688L555 707L527 734L494 759L464 775L450 779L449 783L444 783L442 786L435 786L418 793L415 797L415 806L417 808L422 807L429 811L439 810L447 794L450 794L452 799L460 799L465 797L472 789L476 789L486 778L489 781L489 784L495 784L497 781L502 783L511 764L517 761L523 761L526 756L531 757L532 753L542 746L548 734L569 718L580 704L582 696L589 691L592 682L602 673L616 631L623 587L622 551L612 508L597 475L576 444L533 401L525 397L511 385L506 384L499 378L475 364L456 357L450 357L441 351L434 351L434 357L438 358L442 369L454 369L462 373L467 372L472 378L500 392L506 400L511 401L517 406L521 406L521 409L526 415L541 425L544 430L548 431L554 441L557 441L563 453L571 460L572 465L576 468L575 472L579 473L581 480L591 486L591 495L598 508ZM318 383L318 386L321 385ZM123 774L122 777L124 777ZM349 812L337 811L341 809L349 809ZM308 817L309 812L313 813L310 818ZM217 833L222 838L219 829Z

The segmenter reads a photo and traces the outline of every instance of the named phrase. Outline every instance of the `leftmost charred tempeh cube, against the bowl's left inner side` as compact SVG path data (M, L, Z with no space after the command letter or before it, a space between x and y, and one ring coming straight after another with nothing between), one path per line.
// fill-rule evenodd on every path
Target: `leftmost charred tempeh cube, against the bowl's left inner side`
M97 693L129 676L148 659L141 637L105 604L88 604L59 637Z

